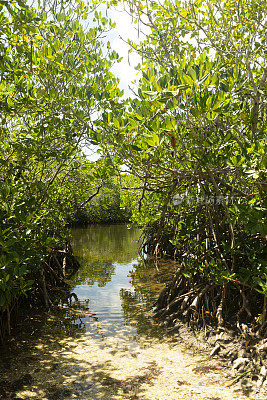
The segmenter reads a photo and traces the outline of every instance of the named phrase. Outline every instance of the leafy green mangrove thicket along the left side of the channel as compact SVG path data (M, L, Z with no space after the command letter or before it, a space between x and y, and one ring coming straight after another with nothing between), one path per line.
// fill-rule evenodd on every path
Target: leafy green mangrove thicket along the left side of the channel
M0 1L0 308L8 330L21 297L33 286L45 295L45 261L65 247L77 196L82 206L110 179L108 161L90 163L80 150L94 135L92 116L120 94L109 72L118 55L101 41L110 21L94 7Z

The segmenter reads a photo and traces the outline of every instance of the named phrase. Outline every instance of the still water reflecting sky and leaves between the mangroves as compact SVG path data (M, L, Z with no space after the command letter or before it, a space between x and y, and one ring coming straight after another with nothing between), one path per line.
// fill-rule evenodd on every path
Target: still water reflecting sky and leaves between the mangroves
M126 225L73 229L74 254L82 264L72 280L78 297L73 305L87 307L81 318L87 335L134 337L151 328L146 314L161 283L155 267L138 257L140 233Z

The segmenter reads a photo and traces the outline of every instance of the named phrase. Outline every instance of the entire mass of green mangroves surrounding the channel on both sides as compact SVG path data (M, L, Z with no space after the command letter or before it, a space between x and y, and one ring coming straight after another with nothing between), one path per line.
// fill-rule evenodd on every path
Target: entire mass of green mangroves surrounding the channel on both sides
M142 78L128 100L96 2L0 0L1 313L10 329L19 298L45 291L68 222L134 210L144 251L181 264L157 318L264 334L266 1L123 3L149 32L129 42Z

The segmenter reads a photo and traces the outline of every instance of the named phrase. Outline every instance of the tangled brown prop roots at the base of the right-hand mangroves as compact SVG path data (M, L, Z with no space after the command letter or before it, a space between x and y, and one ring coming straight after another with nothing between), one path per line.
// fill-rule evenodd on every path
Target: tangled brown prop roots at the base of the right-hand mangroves
M187 279L179 269L173 279L159 294L152 316L168 331L176 330L179 320L193 329L215 325L236 328L243 336L266 334L267 300L260 293L251 294L251 288L232 282L220 286L196 277ZM259 304L262 324L256 320ZM178 322L177 322L178 321Z

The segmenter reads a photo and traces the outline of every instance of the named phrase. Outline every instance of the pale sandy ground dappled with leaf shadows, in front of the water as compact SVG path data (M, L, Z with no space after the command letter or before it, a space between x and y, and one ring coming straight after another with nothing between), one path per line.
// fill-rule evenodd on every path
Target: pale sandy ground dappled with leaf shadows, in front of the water
M33 377L17 393L20 399L248 399L237 386L226 387L231 377L218 360L171 340L137 342L118 335L104 342L88 336L40 340L26 359L21 357L11 374Z

